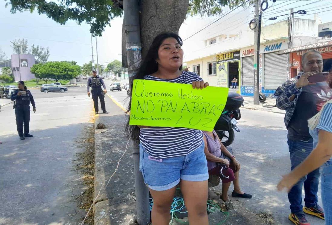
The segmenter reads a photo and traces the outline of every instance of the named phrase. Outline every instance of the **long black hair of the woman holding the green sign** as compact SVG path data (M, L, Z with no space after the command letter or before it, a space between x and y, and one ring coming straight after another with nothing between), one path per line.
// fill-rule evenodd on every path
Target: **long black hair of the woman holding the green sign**
M155 73L158 71L158 64L156 62L156 60L158 59L158 50L160 45L163 43L163 41L167 38L175 38L178 43L182 46L182 39L179 35L177 35L176 33L172 33L172 32L163 32L158 34L152 41L152 44L145 56L145 58L142 61L141 66L137 69L137 71L135 72L135 74L130 78L130 96L132 93L132 85L133 85L133 81L135 79L144 79L145 75L150 75L152 73ZM179 70L182 70L182 65L179 68ZM131 107L131 98L129 101L129 105L127 108L127 113L130 112L130 107ZM125 126L125 134L128 138L131 138L134 142L138 142L139 141L139 134L140 134L140 130L138 126L133 126L133 125L129 125L129 116L128 116L128 120Z

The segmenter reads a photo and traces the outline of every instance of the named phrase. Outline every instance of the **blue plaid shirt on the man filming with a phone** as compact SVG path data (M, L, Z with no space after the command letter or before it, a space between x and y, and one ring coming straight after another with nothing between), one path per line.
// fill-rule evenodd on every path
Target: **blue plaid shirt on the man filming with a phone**
M290 119L295 111L298 96L300 96L302 92L302 88L297 88L295 85L295 83L302 74L303 72L299 72L296 77L289 79L281 87L278 87L278 89L274 93L274 95L277 96L277 107L281 110L286 110L284 119L286 128L288 128ZM290 101L290 97L293 95L295 96L295 98L293 101Z

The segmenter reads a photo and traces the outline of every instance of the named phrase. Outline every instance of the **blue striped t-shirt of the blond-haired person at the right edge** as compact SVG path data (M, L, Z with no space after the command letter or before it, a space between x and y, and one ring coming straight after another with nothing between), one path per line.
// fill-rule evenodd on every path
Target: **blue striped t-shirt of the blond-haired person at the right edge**
M319 122L314 130L309 129L309 133L313 138L313 148L316 148L318 144L319 130L325 130L332 133L332 103L327 103L323 111L320 114ZM329 159L332 161L332 157Z

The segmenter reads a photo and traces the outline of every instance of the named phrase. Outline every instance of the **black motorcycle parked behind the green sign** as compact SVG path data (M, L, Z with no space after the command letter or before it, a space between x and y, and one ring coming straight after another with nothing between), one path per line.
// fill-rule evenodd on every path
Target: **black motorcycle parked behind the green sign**
M227 102L221 116L214 126L214 130L226 147L233 143L236 132L240 132L237 121L241 119L240 107L243 106L244 99L235 92L228 93Z

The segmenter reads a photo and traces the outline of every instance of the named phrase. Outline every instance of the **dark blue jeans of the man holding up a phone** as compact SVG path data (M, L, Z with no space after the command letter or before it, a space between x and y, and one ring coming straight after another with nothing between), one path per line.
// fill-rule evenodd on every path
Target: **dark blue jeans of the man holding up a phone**
M288 139L288 148L290 151L291 170L299 165L313 150L313 140L293 141ZM304 184L304 202L306 207L314 207L318 203L318 183L319 169L315 169L306 176L302 177L288 193L290 202L290 211L292 213L303 213L302 207L302 186Z

